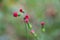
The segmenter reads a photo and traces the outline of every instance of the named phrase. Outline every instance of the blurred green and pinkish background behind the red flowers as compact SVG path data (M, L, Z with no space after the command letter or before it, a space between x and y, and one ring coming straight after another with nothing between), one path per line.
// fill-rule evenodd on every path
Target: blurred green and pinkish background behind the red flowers
M35 40L29 30L26 36L23 17L13 17L20 8L29 14L38 40L60 40L60 0L0 0L0 40ZM41 21L45 32L41 32Z

